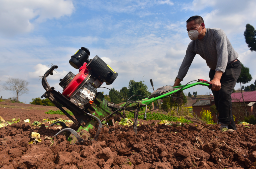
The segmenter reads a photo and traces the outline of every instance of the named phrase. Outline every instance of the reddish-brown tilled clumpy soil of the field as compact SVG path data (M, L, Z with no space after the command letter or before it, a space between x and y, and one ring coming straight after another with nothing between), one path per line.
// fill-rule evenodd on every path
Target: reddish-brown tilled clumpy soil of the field
M34 105L28 105L33 107ZM47 115L45 110L0 108L0 116L35 119L63 118ZM15 113L13 113L15 112ZM33 120L31 120L33 121ZM157 125L144 121L137 135L132 126L103 127L98 141L71 145L66 136L51 137L56 126L35 128L19 122L0 128L0 168L254 168L256 126L237 125L237 131L222 133L220 125L201 123L183 126ZM121 127L121 130L120 130ZM31 132L42 142L28 144ZM96 130L90 130L91 136Z

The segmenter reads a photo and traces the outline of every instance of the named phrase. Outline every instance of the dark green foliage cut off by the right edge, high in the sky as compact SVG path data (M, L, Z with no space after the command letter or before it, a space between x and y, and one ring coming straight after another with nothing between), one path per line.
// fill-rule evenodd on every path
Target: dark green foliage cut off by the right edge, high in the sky
M250 50L256 51L256 31L254 27L248 23L243 35Z

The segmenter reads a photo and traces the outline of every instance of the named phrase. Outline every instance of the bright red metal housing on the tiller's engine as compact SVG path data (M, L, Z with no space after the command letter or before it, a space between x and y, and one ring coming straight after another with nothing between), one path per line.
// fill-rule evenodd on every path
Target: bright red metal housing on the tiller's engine
M82 68L83 67L83 68ZM86 66L82 66L81 71L71 80L71 82L68 84L68 86L63 89L63 96L69 98L69 96L72 95L73 92L76 91L76 89L79 87L79 85L83 82L83 80L88 76L88 69Z

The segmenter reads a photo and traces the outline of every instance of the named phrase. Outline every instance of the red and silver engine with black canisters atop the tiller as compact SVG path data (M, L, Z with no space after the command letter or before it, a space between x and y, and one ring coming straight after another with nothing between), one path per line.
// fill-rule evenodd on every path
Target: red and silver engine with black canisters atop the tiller
M79 69L79 73L74 75L69 72L59 83L63 87L62 95L81 109L93 103L97 88L103 82L110 85L118 76L118 73L97 55L90 60L89 55L87 48L79 49L69 60L74 68Z

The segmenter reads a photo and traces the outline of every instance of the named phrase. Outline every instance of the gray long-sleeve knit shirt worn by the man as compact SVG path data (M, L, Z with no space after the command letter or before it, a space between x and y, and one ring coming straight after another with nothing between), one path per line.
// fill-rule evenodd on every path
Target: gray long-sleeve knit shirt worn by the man
M189 43L177 78L183 80L196 54L205 59L207 66L211 69L223 73L227 64L238 58L238 53L234 50L222 29L206 28L203 39L192 40Z

